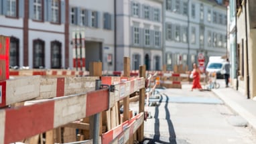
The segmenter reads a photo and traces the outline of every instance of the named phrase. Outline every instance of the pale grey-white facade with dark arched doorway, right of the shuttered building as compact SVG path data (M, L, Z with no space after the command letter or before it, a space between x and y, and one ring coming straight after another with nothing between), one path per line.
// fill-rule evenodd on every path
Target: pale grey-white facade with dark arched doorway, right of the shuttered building
M163 55L162 6L160 0L117 1L116 68L123 70L123 57L131 58L131 70L161 70Z

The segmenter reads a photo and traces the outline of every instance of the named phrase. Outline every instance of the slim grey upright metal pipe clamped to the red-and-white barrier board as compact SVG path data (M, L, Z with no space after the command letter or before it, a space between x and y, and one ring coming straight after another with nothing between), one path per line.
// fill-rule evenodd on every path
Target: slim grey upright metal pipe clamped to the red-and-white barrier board
M101 80L96 80L95 82L95 90L101 89ZM99 131L100 131L100 113L95 114L94 116L94 123L93 123L93 139L92 143L97 144L99 143Z

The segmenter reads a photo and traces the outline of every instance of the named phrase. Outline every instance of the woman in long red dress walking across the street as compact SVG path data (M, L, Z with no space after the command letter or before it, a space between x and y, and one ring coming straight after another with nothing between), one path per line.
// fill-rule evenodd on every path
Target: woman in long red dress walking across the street
M198 88L200 91L202 91L202 86L200 84L200 70L198 69L198 66L196 63L193 64L193 71L192 71L192 78L193 78L193 83L192 83L192 88L191 91L193 91L194 88Z

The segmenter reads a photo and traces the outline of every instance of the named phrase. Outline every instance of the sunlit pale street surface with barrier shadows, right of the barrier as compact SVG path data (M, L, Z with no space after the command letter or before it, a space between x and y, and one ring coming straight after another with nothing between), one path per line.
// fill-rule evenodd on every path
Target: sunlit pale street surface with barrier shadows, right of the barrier
M190 88L183 84L182 89L158 89L158 98L149 99L143 143L256 143L247 121L213 92Z

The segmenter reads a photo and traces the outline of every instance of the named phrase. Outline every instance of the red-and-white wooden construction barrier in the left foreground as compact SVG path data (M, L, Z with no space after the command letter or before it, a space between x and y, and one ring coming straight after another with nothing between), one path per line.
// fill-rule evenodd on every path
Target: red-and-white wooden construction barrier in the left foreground
M43 76L21 76L2 80L0 143L15 143L27 139L27 143L33 143L32 138L34 143L38 143L38 139L43 141L42 133L46 133L44 141L48 143L68 143L77 140L76 129L83 131L79 134L79 140L83 143L95 143L97 137L99 143L103 144L126 143L133 140L134 133L139 133L138 139L142 141L145 117L145 66L141 66L139 77L130 77L127 72L124 72L123 77L114 77L100 76L99 73L102 71L99 64L101 63L92 64L90 76L46 77L44 72L40 72L37 74ZM98 80L101 80L101 89L95 90ZM135 117L127 116L129 95L137 91L140 95L139 114ZM120 100L123 100L124 106L123 123L118 121L120 115L117 102ZM99 124L99 135L95 135L92 130L95 129L93 123L96 121L85 121L86 118L95 119L96 115L101 113L105 113L107 124L104 124L105 128L103 124ZM72 141L71 138L64 140L62 128L66 131L68 127L73 131L70 133L74 137ZM84 141L85 137L88 137L88 141Z

